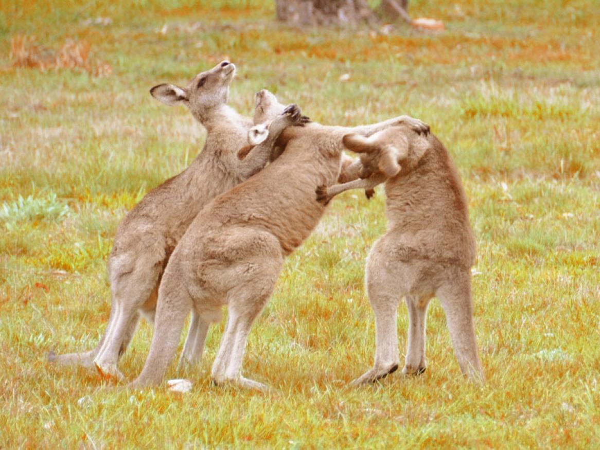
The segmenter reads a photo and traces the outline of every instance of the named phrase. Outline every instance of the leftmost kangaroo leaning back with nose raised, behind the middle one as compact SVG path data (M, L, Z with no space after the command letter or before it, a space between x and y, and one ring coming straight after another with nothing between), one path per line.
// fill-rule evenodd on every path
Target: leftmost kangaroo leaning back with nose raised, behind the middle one
M108 262L110 319L98 346L83 353L57 356L51 352L50 361L95 366L101 374L122 379L119 356L127 349L140 314L154 321L164 268L191 221L209 200L250 178L268 162L270 150L254 152L244 160L236 155L247 142L253 121L227 106L235 70L235 65L223 61L197 74L185 88L161 84L151 89L162 103L182 104L190 110L206 128L205 146L184 172L146 194L119 225ZM269 111L266 106L265 110ZM193 318L188 350L196 334L205 332L194 328L197 323ZM191 350L184 352L181 364L193 364L192 356Z

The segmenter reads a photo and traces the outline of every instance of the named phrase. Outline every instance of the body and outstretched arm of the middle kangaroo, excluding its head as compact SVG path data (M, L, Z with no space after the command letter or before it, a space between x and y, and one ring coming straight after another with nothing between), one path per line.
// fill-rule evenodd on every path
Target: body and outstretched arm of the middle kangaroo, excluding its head
M273 292L284 257L310 235L325 211L314 199L315 188L338 179L344 134L371 134L399 123L428 129L407 116L357 128L315 123L289 127L278 141L284 148L280 157L206 205L165 269L150 353L130 386L161 382L190 310L208 326L221 319L221 309L227 305L229 317L212 379L217 384L266 389L241 376L244 349L254 319Z

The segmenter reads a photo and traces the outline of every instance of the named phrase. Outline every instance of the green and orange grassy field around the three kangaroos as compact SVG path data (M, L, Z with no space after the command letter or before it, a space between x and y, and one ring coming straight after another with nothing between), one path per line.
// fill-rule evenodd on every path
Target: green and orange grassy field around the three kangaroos
M0 4L1 449L598 445L598 5L411 2L413 16L445 22L431 35L287 29L271 1L54 3ZM88 45L89 64L16 67L19 35L37 37L46 55L68 40ZM230 104L241 112L268 88L327 124L408 113L446 143L478 238L484 386L461 377L434 301L425 374L347 387L373 359L363 276L385 230L381 192L371 202L341 196L287 260L244 362L245 374L274 388L268 394L211 385L224 323L185 374L194 382L185 395L128 392L47 364L51 349L97 343L119 221L202 148L187 110L148 89L185 83L225 58L238 65ZM403 357L404 307L398 328ZM122 358L128 380L151 335L140 326ZM168 376L181 374L173 365Z

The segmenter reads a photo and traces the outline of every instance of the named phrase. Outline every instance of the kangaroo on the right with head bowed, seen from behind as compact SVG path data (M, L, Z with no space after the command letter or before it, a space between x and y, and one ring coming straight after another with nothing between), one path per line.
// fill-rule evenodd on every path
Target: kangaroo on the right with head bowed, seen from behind
M471 271L475 238L463 185L442 143L392 127L368 138L349 134L344 145L361 155L361 176L345 184L317 189L327 203L348 189L385 182L388 231L367 257L369 301L376 320L374 367L355 385L381 379L398 368L397 310L405 298L409 310L405 374L420 374L425 359L427 306L442 302L458 364L470 379L483 380L475 341Z

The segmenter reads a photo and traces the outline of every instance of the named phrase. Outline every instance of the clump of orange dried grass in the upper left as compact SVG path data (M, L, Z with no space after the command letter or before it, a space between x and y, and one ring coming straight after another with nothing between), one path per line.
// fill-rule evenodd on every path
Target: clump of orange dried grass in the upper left
M11 38L10 59L14 67L47 70L64 68L84 71L92 76L109 76L112 67L103 61L90 58L91 44L68 39L58 52L37 44L35 36L16 35Z

